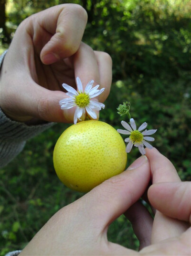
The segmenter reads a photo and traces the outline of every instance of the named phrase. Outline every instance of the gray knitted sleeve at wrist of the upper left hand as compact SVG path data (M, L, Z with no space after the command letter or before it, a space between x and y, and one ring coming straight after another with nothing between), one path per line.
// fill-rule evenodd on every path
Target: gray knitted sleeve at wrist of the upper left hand
M6 52L0 56L0 67ZM24 148L26 140L31 139L53 123L28 126L8 118L0 109L0 168L16 157Z

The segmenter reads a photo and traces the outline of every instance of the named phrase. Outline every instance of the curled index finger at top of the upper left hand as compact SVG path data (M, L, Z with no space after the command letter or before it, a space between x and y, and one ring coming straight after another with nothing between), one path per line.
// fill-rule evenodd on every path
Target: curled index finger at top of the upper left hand
M87 13L78 4L61 4L34 14L31 19L29 31L38 52L41 51L41 60L44 64L52 64L77 51L84 35Z

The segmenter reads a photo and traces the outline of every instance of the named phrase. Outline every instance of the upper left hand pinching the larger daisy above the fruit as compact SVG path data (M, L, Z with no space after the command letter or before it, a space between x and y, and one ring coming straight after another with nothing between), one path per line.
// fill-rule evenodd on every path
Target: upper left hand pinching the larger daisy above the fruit
M75 109L63 111L59 101L68 97L62 84L75 88L76 77L84 87L92 79L99 89L105 87L99 101L106 100L112 61L81 41L86 22L80 5L61 4L19 25L0 73L0 107L6 115L21 122L73 122Z

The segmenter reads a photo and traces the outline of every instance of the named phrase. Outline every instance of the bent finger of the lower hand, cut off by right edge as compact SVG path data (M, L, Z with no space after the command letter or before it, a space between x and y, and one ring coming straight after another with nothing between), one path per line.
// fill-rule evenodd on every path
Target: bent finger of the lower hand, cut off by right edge
M191 222L191 182L163 182L149 187L149 201L163 214Z

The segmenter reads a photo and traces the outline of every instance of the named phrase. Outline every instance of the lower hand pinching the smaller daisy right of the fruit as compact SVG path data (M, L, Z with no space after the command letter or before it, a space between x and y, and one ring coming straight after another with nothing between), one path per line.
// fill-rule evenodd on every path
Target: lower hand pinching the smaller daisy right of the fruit
M146 155L60 209L20 255L190 255L191 184L181 182L156 149ZM148 186L154 220L138 202ZM107 240L109 224L123 213L138 236L139 252Z

